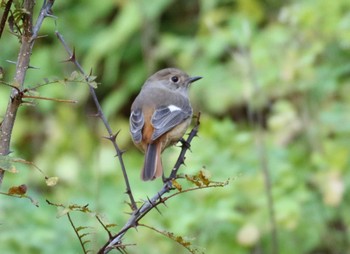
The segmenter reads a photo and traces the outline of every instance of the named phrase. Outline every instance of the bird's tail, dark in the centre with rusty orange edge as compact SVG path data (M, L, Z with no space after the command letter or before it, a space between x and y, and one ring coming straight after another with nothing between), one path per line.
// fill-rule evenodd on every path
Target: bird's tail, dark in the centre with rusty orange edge
M160 148L161 146L159 142L148 145L145 154L145 163L141 172L141 178L143 181L154 180L163 174Z

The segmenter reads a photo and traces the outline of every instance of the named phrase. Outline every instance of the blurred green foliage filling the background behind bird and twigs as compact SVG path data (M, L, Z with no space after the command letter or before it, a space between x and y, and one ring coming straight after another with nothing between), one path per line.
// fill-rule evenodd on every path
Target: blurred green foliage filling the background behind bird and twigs
M39 11L42 1L37 1ZM2 10L1 10L2 11ZM212 179L231 179L225 188L180 195L142 222L187 236L205 253L270 253L271 223L262 158L271 175L279 253L350 251L350 2L276 0L100 0L57 1L57 20L47 19L37 40L26 87L69 77L74 71L57 29L76 49L87 72L100 83L97 93L118 142L136 199L154 194L161 181L141 182L142 154L128 133L130 104L148 75L176 66L203 80L193 85L195 111L202 112L199 138L182 172L203 167ZM2 13L2 12L0 12ZM6 28L0 66L11 82L19 49ZM7 173L3 192L26 184L39 202L0 196L2 253L79 253L66 217L45 199L89 204L109 223L122 225L129 209L122 174L88 88L53 84L45 97L78 100L70 105L33 101L20 109L12 156L34 162L58 176L47 187L29 165ZM0 116L9 88L0 86ZM262 122L257 117L262 116ZM259 132L262 125L263 131ZM260 134L259 134L260 133ZM259 148L258 144L263 144ZM170 169L179 149L166 151ZM91 226L90 247L106 240L93 217L74 213ZM124 239L129 253L186 253L146 228Z

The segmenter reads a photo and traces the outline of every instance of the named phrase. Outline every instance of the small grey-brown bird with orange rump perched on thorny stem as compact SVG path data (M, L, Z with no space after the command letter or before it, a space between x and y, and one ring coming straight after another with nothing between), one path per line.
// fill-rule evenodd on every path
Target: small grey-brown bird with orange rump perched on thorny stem
M151 75L131 105L129 118L133 143L145 154L141 179L163 176L161 153L177 143L191 123L190 85L201 79L177 68Z

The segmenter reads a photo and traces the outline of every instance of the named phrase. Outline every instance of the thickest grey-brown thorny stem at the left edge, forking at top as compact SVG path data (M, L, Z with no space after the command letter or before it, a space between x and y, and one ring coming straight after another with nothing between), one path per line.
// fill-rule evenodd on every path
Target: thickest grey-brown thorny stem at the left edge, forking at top
M0 125L0 155L8 155L10 153L10 142L13 126L19 106L22 103L24 80L29 68L30 56L37 38L38 31L47 13L50 13L54 0L44 1L35 27L33 27L33 10L35 1L25 0L23 8L23 33L21 36L21 48L17 57L16 74L14 77L10 100L7 105L5 117ZM5 171L0 168L0 186L4 178Z

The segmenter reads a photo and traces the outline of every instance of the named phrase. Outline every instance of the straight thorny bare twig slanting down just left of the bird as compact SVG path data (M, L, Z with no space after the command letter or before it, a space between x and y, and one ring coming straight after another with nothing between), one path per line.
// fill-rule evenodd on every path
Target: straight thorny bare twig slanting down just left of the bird
M89 76L90 75L87 75L85 73L84 69L81 67L80 63L76 59L75 51L74 50L72 51L69 48L69 46L65 42L63 36L58 31L56 31L56 36L59 39L59 41L62 43L64 48L66 49L67 53L69 54L68 61L74 63L74 65L77 67L78 71L81 74L84 75L86 82L89 83ZM119 164L121 166L121 169L122 169L122 172L123 172L124 181L125 181L125 185L126 185L126 193L128 194L129 199L130 199L131 208L132 208L133 211L136 211L137 210L137 205L136 205L134 196L133 196L133 194L131 192L131 187L130 187L128 175L126 173L125 164L124 164L124 160L123 160L123 151L119 148L119 146L118 146L118 144L116 142L116 137L117 137L118 133L117 134L113 133L112 128L110 127L110 125L109 125L109 123L107 121L107 118L106 118L106 116L104 115L104 113L102 111L101 105L100 105L100 103L99 103L99 101L97 99L97 95L95 93L94 88L91 85L89 85L89 89L90 89L91 97L92 97L92 99L93 99L93 101L95 103L95 106L97 108L97 114L101 118L105 128L107 129L107 132L108 132L108 135L109 135L108 139L112 142L112 144L114 146L114 149L115 149L115 151L117 153L117 156L118 156L118 159L119 159Z

